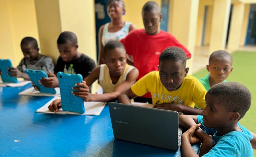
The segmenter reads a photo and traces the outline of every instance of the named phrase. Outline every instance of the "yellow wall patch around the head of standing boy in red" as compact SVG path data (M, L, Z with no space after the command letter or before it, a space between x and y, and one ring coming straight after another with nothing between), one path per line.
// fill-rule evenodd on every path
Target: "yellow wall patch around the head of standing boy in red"
M132 22L136 26L137 29L144 28L141 11L143 5L148 2L149 0L123 0L125 3L125 10L126 13L123 16L123 20ZM154 0L156 1L159 6L161 7L161 0Z

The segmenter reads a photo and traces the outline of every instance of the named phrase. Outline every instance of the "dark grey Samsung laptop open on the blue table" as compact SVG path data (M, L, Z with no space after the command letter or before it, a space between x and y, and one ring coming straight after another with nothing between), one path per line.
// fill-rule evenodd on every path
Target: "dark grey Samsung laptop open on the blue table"
M116 139L177 150L182 129L176 111L109 102Z

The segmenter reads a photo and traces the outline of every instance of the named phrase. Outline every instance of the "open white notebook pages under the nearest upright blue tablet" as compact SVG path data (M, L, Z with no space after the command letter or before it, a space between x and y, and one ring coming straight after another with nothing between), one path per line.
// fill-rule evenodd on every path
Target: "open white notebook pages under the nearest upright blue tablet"
M36 112L53 113L54 114L54 112L52 112L48 109L48 106L55 99L61 99L61 97L55 96L52 100L47 102L43 107L41 107L40 109L37 109ZM105 102L84 102L84 107L85 107L85 113L84 114L80 114L80 113L77 113L77 112L63 111L62 108L60 108L59 111L56 114L100 115L100 113L103 110L105 105L106 105Z

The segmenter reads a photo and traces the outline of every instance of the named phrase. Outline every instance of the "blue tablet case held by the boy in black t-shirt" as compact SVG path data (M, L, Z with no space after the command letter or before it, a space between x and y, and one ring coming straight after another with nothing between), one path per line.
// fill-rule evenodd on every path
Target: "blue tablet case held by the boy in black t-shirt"
M27 69L26 73L28 74L31 81L35 84L35 86L39 89L40 92L56 94L54 88L44 87L44 85L39 84L38 80L40 80L41 77L48 77L43 70Z

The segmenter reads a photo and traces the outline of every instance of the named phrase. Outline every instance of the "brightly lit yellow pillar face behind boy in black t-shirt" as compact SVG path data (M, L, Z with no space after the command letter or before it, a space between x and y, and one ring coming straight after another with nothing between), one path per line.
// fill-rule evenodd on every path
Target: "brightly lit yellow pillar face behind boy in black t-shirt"
M60 0L61 28L74 32L78 51L96 61L96 28L93 0Z

